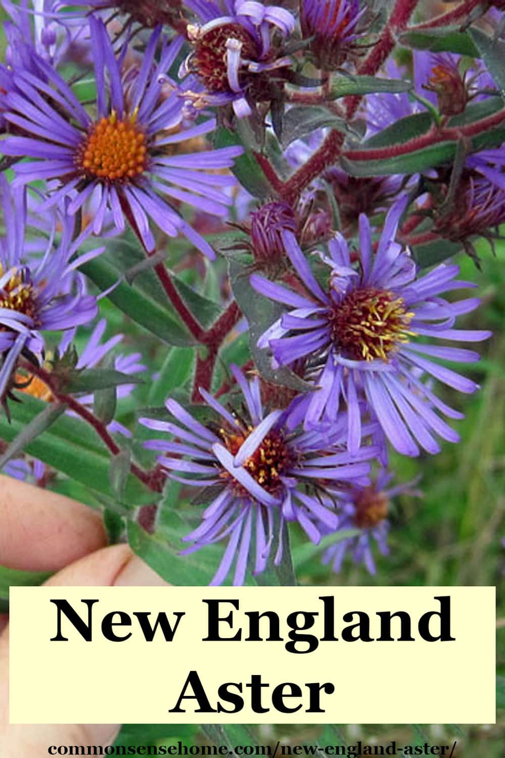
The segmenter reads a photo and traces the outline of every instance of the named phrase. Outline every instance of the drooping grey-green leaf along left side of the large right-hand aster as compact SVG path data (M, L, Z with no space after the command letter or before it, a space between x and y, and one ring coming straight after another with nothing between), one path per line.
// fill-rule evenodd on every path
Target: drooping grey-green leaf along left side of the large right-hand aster
M271 358L267 349L259 349L257 340L261 334L282 315L284 309L279 303L260 296L253 290L249 283L251 268L237 260L229 260L229 279L232 284L235 300L238 302L242 313L247 318L249 326L249 342L251 355L260 371L260 374L273 384L280 384L298 392L313 390L312 384L308 384L288 368L272 368Z

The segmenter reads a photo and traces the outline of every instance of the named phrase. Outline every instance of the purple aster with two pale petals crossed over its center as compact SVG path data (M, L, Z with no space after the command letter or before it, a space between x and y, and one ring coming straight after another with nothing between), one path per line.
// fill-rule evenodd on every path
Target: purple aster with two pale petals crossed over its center
M316 522L330 530L338 526L335 503L326 496L325 484L367 484L366 461L376 454L376 448L368 446L350 456L341 446L341 424L330 434L289 431L284 411L265 414L259 379L247 381L235 366L232 372L242 390L248 418L230 412L200 390L219 415L218 424L204 426L173 399L166 405L175 424L141 419L148 428L165 431L177 440L145 443L163 453L159 461L172 472L171 478L192 487L213 488L201 525L185 537L192 545L182 553L229 537L211 584L222 584L235 559L233 584L243 584L251 540L255 542L254 574L267 568L274 543L274 563L279 565L286 522L298 522L307 537L318 543L321 531Z

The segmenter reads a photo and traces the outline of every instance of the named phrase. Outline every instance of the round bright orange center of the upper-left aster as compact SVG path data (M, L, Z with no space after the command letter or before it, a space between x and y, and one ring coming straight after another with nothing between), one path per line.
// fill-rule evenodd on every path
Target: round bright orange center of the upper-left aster
M115 111L92 127L76 155L86 174L120 183L142 174L147 159L145 133L136 126L136 113L119 120Z

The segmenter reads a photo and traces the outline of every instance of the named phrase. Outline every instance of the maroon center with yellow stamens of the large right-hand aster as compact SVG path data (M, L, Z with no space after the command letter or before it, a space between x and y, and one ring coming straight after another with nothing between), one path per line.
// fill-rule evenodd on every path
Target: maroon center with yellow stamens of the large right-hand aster
M332 340L345 357L356 361L387 361L415 332L408 329L414 314L401 297L366 287L353 290L329 315Z

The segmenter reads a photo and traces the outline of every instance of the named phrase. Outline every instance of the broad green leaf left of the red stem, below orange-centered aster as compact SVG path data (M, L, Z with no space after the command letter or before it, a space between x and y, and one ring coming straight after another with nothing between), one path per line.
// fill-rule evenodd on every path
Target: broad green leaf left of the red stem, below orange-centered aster
M105 260L104 255L81 266L81 271L101 292L113 287L119 279L117 269ZM108 299L132 321L167 345L188 346L193 343L189 330L180 321L176 321L167 309L139 292L135 285L130 287L126 282L120 282L108 294Z

